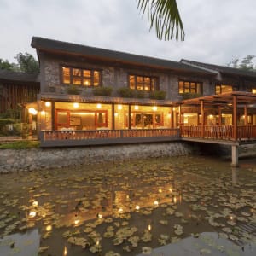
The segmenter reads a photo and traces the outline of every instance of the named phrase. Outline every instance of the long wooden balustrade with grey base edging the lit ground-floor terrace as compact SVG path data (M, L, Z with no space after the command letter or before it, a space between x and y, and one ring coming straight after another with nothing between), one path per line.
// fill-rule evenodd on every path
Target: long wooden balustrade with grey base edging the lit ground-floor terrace
M107 145L120 143L156 143L180 139L179 129L41 131L42 148Z

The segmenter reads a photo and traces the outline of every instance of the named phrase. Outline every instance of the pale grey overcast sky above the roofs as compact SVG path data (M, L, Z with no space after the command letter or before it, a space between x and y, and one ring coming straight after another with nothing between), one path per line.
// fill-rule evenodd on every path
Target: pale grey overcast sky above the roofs
M177 0L184 41L149 32L136 0L0 0L0 58L15 62L33 36L180 61L227 65L256 55L255 0Z

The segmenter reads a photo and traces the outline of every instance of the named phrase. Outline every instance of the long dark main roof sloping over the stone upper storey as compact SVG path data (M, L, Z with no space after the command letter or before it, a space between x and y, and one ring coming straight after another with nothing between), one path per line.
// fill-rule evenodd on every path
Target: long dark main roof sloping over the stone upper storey
M161 69L187 73L212 74L202 70L201 68L190 67L189 65L177 61L163 60L143 55L134 55L130 53L85 46L81 44L72 44L48 38L33 37L31 45L37 50L43 50L63 55L81 55L92 59L116 61L144 67L158 67Z

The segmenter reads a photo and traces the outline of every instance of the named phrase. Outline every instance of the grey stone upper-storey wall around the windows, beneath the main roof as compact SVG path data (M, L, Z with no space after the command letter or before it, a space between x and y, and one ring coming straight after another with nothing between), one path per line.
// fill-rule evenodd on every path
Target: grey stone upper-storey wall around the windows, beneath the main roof
M88 69L102 70L102 86L113 87L112 96L118 96L119 88L128 87L129 74L159 78L160 90L166 91L166 100L177 101L182 97L178 94L179 79L203 83L203 94L209 95L214 92L210 80L203 76L189 76L175 73L159 71L153 68L143 67L119 67L114 64L88 61L79 58L65 58L56 55L40 54L41 62L41 92L66 94L67 86L61 83L61 67L80 67ZM213 89L212 89L213 88ZM92 95L91 88L79 86L81 95ZM147 93L145 93L147 97Z

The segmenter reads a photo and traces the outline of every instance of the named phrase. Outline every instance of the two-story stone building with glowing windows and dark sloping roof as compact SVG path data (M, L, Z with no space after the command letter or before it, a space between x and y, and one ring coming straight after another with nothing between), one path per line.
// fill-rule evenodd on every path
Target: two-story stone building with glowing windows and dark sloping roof
M229 108L216 110L213 104L204 108L202 117L201 108L182 101L187 96L256 90L256 73L230 67L168 61L46 38L32 38L32 47L40 63L36 108L43 141L152 138L172 135L180 125L229 125ZM247 116L255 125L254 108Z

